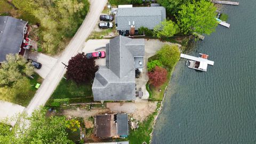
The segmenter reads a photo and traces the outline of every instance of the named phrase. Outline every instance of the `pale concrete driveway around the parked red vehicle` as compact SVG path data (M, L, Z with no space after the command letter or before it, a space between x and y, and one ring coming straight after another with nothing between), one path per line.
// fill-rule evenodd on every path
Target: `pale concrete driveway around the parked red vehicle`
M85 43L83 48L84 53L89 52L96 52L96 51L106 51L106 44L109 43L110 39L89 39ZM102 59L95 59L96 65L105 66L106 60L105 58Z

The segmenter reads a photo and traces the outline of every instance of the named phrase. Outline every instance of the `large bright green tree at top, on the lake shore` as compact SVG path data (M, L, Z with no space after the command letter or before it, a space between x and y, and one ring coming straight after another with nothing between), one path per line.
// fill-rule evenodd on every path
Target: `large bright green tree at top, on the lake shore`
M183 4L176 17L178 25L184 34L196 32L210 35L218 25L214 18L216 10L211 2L205 0Z

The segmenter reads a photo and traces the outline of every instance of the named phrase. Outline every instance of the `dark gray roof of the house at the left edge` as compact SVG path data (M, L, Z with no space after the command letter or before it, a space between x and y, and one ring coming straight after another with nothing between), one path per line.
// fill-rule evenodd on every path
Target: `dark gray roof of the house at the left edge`
M0 62L5 61L5 55L19 53L23 41L23 28L27 21L12 17L0 17Z

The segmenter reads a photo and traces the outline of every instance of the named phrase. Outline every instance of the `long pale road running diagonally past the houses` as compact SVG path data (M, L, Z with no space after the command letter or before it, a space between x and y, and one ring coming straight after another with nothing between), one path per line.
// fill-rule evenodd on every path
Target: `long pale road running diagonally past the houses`
M36 92L35 97L30 101L28 107L25 109L28 115L31 115L34 109L39 106L45 105L46 101L51 97L51 94L59 84L61 78L66 73L66 68L61 62L67 64L71 57L78 52L82 52L85 40L97 24L100 13L107 4L107 0L91 0L90 3L90 11L87 13L83 24L77 30L76 35L70 41L65 51L63 51L58 61L50 70L50 73L45 77L43 83Z

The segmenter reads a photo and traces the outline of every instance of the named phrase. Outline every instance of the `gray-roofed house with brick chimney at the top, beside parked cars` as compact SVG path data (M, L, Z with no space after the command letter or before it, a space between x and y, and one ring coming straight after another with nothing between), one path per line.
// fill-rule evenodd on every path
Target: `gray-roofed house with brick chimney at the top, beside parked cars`
M119 35L138 34L140 27L153 30L166 19L163 6L118 8L115 18L116 30Z

